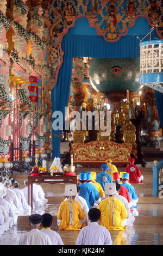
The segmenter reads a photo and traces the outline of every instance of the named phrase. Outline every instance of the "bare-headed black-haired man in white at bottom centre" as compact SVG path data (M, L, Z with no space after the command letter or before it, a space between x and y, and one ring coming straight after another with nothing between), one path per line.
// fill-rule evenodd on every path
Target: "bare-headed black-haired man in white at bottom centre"
M101 211L89 210L90 225L82 228L76 240L76 245L112 245L110 232L100 225Z

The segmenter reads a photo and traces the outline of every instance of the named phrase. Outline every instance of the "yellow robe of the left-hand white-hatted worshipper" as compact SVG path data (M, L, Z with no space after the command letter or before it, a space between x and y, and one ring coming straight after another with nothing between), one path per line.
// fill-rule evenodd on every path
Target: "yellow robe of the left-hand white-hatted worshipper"
M79 202L72 200L73 225L70 225L69 200L62 202L59 206L57 218L61 220L59 230L80 230L80 220L84 220L86 213L83 212Z

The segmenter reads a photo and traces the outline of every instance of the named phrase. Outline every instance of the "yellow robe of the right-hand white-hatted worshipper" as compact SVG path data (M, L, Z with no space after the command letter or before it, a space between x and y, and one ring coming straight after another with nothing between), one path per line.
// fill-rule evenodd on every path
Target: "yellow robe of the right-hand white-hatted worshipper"
M109 203L109 217L108 217L108 198L101 201L98 206L98 209L101 211L101 225L103 225L108 230L124 230L122 220L127 218L127 210L124 207L124 204L114 198L114 220L115 226L112 222L112 197L110 197Z

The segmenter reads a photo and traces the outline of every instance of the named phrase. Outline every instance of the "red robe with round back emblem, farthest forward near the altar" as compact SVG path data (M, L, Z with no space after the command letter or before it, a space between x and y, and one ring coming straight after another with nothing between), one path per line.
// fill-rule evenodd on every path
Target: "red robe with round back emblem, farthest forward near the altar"
M141 183L141 181L139 181L138 177L140 178L141 176L141 172L138 166L136 166L136 164L129 164L126 169L125 172L127 172L129 174L129 182L130 183Z

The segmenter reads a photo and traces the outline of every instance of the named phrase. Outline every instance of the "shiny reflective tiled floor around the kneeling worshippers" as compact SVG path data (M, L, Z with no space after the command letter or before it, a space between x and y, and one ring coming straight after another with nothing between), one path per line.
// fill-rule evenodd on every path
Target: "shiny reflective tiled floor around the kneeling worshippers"
M163 245L163 199L152 197L152 165L141 168L144 176L143 184L132 184L139 196L138 209L135 212L134 227L125 231L110 231L114 245ZM77 174L82 168L77 169ZM95 169L95 168L94 168ZM98 172L99 170L97 170ZM23 181L27 175L14 175L23 187ZM42 184L48 204L45 209L34 209L32 213L53 215L52 229L57 231L65 245L75 245L79 231L62 231L57 227L57 212L62 202L64 184ZM18 245L20 236L29 231L28 215L18 217L18 224L10 231L0 236L0 245Z

